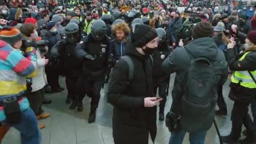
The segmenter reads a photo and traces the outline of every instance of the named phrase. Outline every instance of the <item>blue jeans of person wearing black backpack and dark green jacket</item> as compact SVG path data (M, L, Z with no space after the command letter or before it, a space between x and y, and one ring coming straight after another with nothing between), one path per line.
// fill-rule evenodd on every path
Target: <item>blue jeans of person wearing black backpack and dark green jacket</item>
M182 144L186 131L179 131L171 133L169 144ZM200 131L195 133L189 133L189 143L190 144L204 144L205 136L207 131Z

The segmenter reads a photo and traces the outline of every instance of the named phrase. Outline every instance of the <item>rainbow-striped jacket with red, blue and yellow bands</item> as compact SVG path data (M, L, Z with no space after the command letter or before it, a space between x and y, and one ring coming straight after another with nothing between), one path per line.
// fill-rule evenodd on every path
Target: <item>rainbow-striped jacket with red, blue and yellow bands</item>
M33 48L22 51L0 40L0 96L21 96L26 90L26 77L35 77L37 56Z

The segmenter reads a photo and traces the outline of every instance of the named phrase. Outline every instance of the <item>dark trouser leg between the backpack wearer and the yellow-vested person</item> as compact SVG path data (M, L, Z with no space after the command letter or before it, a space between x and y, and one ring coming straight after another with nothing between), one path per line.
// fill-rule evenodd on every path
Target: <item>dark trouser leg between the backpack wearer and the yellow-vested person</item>
M223 98L222 88L223 88L223 85L218 84L218 87L217 87L217 93L218 93L217 105L218 105L219 110L221 112L227 113L227 104L225 103L225 100Z

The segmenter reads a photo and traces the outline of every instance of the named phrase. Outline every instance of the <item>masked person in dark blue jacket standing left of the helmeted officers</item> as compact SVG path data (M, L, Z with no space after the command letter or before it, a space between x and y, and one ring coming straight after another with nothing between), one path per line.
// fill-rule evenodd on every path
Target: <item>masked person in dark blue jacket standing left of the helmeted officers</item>
M56 23L53 21L48 22L47 29L42 37L43 40L48 40L48 52L45 54L45 58L49 59L48 64L45 66L45 72L47 75L48 85L51 86L51 92L61 92L64 88L59 85L59 64L57 59L51 59L51 49L53 45L61 40L61 36L57 32Z

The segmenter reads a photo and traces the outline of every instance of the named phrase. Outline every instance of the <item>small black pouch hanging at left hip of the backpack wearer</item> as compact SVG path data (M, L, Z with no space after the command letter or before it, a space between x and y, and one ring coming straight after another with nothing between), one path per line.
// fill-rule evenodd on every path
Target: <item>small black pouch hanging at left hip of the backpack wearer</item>
M167 113L165 117L165 125L170 132L180 130L179 118L177 118L173 112Z

